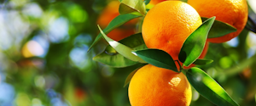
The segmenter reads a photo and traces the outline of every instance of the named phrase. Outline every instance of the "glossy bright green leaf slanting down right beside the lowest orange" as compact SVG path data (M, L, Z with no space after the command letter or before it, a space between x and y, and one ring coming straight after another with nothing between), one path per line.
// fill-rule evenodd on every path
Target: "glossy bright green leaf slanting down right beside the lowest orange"
M203 70L193 67L186 73L190 84L203 97L218 106L239 106L224 89Z

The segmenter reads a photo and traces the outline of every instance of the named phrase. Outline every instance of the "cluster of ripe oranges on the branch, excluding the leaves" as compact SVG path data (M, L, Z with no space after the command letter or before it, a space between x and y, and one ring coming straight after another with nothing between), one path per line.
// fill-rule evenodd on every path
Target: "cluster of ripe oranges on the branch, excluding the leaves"
M185 40L202 24L201 17L216 16L216 20L233 25L237 31L217 38L208 38L199 59L206 56L208 42L227 42L238 36L247 23L246 0L188 0L188 3L151 0L148 4L154 7L143 20L142 33L146 46L161 49L177 61ZM119 15L118 7L118 1L109 3L98 24L106 27ZM134 29L127 30L127 26L135 25L136 22L129 21L124 25L125 30L115 29L108 36L115 41L131 36L135 33ZM178 63L176 65L180 70ZM195 64L182 68L189 69L193 66ZM128 92L132 106L189 106L192 95L189 81L183 73L158 68L152 64L137 70L131 78Z

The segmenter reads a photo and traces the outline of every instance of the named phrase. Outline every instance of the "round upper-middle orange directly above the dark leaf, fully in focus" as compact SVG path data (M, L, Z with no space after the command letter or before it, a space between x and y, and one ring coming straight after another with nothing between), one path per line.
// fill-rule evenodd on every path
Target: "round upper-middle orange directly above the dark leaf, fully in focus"
M145 16L143 40L148 48L161 49L178 60L183 42L201 24L200 15L188 3L165 1L156 4Z

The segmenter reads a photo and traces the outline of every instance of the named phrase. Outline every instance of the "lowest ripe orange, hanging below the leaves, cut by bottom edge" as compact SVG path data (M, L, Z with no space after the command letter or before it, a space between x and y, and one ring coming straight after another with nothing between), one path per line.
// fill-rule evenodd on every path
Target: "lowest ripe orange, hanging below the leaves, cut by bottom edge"
M183 73L147 64L137 70L129 85L131 106L189 106L191 86Z

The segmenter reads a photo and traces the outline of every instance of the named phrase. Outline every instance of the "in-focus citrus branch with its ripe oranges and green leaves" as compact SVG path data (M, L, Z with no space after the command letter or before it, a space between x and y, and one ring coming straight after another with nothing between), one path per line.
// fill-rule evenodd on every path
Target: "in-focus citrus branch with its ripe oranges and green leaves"
M211 75L194 66L212 64L204 59L209 42L230 41L246 25L254 31L255 22L247 22L247 1L185 2L119 0L119 15L104 30L98 25L100 34L90 48L102 38L109 45L94 60L116 68L139 64L125 80L125 86L131 81L132 106L189 105L190 85L216 105L239 105ZM120 41L108 35L134 19L138 33Z

